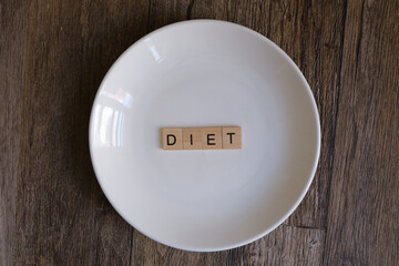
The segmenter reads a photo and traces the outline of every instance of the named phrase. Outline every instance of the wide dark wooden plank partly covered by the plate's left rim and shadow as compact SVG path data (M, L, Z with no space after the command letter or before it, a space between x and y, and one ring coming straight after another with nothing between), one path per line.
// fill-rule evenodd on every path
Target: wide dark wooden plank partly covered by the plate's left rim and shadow
M146 32L147 1L32 1L21 101L17 265L127 265L132 227L92 171L91 103ZM14 28L13 30L19 30Z

